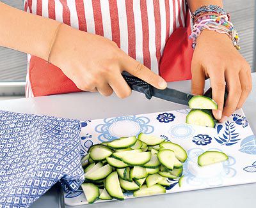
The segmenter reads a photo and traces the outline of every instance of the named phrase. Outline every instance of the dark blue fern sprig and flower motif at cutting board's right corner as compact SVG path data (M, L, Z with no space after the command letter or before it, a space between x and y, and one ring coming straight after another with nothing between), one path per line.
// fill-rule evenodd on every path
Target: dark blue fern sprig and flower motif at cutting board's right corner
M246 128L248 121L243 115L232 114L232 121L227 121L225 124L219 124L217 126L218 137L214 137L215 140L219 144L226 146L237 144L241 140L240 134L236 129L237 126Z

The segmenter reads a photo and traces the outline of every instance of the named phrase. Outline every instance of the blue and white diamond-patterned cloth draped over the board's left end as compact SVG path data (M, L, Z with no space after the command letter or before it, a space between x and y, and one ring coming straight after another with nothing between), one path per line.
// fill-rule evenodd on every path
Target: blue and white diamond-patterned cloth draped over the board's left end
M58 181L79 188L80 131L77 120L0 110L0 207L29 207Z

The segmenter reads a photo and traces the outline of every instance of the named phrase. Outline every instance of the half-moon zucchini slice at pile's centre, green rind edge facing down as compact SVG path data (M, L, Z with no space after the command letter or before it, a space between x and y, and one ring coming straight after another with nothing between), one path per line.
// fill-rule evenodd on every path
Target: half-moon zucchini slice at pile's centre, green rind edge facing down
M120 152L118 152L120 153ZM128 165L143 165L150 161L151 153L150 152L139 152L133 154L125 154L122 156L122 161Z

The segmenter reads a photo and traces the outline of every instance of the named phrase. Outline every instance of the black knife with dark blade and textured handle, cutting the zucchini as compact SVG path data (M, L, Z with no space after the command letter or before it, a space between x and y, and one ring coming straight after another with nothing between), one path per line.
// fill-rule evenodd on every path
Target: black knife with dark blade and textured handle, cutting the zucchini
M152 97L156 97L173 103L188 105L188 101L193 97L192 94L183 93L172 88L157 89L140 78L133 77L128 73L123 73L122 75L132 90L145 94L148 100Z

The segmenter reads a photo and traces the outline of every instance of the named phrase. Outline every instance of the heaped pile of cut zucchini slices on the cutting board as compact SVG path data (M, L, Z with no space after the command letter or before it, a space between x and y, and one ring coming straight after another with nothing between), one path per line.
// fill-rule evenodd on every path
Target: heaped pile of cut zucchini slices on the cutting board
M182 184L182 163L187 159L180 145L140 133L92 145L81 163L81 185L89 204L97 199L124 200L126 191L134 197L165 193L168 179Z

